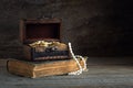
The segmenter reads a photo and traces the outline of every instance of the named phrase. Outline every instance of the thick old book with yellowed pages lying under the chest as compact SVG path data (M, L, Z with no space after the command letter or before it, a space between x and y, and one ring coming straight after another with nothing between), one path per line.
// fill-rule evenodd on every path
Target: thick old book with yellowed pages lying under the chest
M79 59L81 66L84 66L82 59ZM63 75L79 69L74 59L53 61L53 62L25 62L10 59L7 62L8 72L24 77L43 77L53 75Z

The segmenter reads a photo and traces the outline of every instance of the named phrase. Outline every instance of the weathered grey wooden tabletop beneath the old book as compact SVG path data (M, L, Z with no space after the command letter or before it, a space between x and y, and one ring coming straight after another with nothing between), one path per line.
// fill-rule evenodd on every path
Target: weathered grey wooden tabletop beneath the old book
M25 78L9 74L0 59L0 88L133 88L133 66L91 65L79 76Z

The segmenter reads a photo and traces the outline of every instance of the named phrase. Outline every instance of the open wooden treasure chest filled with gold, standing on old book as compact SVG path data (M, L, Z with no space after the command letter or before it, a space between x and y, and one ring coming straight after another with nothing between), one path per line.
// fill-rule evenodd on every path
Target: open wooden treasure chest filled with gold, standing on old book
M61 40L60 19L21 20L20 37L23 44L24 59L70 58L69 47ZM34 43L38 44L37 47L33 46ZM39 46L39 44L42 44L42 46Z

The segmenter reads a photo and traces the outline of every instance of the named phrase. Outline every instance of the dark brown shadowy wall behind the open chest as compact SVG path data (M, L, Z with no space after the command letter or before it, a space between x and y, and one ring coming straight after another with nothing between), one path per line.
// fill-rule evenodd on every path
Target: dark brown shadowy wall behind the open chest
M0 0L0 57L22 57L20 19L62 19L63 42L90 57L133 56L132 0Z

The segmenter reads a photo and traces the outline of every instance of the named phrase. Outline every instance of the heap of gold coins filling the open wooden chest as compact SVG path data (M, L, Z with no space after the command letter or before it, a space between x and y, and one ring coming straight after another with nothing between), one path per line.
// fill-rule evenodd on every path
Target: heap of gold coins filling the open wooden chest
M37 41L29 45L35 48L37 52L44 52L47 48L52 48L52 50L58 50L58 51L68 50L68 45L64 43L60 43L60 42Z

